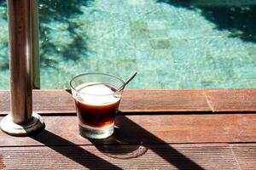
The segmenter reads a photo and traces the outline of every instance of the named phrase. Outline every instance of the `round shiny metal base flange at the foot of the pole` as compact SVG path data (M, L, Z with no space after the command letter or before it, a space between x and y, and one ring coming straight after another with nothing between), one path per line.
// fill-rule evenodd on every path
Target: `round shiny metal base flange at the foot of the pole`
M36 133L39 130L44 129L44 121L37 113L32 112L32 118L30 122L24 124L17 124L13 122L12 116L9 114L3 117L0 122L0 127L4 133L8 133L12 136L28 136L31 133Z

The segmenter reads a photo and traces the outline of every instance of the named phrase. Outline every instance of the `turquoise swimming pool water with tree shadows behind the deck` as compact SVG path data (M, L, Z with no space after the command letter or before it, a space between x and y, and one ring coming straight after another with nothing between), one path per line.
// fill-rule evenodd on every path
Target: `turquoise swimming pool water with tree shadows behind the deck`
M256 3L212 2L40 0L41 87L68 88L81 72L126 79L137 71L128 88L255 88ZM0 89L7 89L0 4Z

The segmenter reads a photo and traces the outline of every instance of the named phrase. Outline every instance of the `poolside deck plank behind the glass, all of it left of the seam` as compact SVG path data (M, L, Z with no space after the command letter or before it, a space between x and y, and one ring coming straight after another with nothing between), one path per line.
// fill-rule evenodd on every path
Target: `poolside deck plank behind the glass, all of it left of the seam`
M0 114L9 111L9 91L0 91ZM72 95L66 90L34 90L33 110L39 113L74 112ZM200 89L125 90L121 112L212 111Z

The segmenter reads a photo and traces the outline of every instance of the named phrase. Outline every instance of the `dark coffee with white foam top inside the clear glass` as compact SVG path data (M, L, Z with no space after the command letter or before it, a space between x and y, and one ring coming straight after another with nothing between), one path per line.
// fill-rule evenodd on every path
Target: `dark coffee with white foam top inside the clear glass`
M75 99L80 125L82 127L113 125L120 101L120 98L113 94L116 89L104 84L85 84L80 87L82 88L79 88L79 97Z

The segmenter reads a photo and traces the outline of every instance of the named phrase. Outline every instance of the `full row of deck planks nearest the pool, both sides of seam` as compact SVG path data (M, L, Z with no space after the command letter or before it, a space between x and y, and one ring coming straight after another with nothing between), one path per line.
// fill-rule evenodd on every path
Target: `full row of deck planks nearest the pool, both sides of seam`
M33 110L71 113L73 98L66 90L34 90ZM256 111L256 89L125 90L120 112ZM9 113L9 91L0 91L0 114Z

